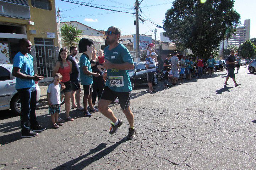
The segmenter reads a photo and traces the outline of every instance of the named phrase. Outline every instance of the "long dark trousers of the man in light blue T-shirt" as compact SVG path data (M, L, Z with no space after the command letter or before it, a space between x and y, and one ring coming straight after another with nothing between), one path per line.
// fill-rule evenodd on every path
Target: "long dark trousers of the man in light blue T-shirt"
M38 125L36 118L37 90L36 87L17 89L21 101L21 131L29 131L31 126Z

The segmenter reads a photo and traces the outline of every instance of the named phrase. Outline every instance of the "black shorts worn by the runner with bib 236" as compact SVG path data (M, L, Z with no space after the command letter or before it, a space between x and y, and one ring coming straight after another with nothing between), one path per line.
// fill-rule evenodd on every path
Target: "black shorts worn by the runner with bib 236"
M116 97L118 97L121 109L125 110L127 107L130 106L131 91L117 92L110 90L108 86L105 86L100 99L109 100L113 102L116 99Z

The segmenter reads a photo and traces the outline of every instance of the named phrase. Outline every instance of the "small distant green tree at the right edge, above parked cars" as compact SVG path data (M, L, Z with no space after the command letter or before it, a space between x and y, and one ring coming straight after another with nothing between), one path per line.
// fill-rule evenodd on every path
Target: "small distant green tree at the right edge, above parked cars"
M251 42L251 40L246 40L243 44L240 46L240 53L239 56L242 56L243 58L254 58L256 55L256 46L254 43Z

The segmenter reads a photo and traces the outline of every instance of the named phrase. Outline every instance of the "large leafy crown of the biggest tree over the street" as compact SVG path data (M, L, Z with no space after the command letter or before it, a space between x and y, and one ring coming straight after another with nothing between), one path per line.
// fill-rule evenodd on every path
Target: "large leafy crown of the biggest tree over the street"
M207 59L240 23L233 6L234 0L175 0L165 13L164 34L176 46Z

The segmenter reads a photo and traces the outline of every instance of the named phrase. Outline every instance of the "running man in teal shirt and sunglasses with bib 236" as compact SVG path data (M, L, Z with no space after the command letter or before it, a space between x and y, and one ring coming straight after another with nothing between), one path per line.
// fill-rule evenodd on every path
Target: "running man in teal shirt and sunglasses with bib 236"
M114 134L122 125L122 120L116 118L108 106L118 97L122 112L130 124L127 138L133 139L136 129L134 127L134 115L130 110L132 87L128 70L134 69L134 62L128 49L119 44L121 35L119 28L109 27L105 35L107 35L108 46L104 49L105 62L103 67L107 69L108 80L98 102L98 109L100 113L112 121L109 134Z

